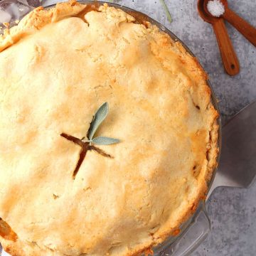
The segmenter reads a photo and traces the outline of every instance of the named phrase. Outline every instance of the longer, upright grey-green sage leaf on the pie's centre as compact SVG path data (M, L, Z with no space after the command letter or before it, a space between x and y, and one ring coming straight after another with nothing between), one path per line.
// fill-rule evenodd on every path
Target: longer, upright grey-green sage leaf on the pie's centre
M98 127L103 122L103 120L107 117L108 111L109 111L109 106L108 106L108 103L105 102L100 106L100 108L95 113L94 117L92 118L92 122L90 123L90 128L87 132L87 138L89 140L92 140Z

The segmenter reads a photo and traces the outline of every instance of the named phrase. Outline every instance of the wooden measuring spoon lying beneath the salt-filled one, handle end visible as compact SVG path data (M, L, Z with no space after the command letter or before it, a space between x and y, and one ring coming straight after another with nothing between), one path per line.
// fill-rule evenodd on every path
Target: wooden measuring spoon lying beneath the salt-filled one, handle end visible
M237 75L240 70L239 61L228 36L224 20L208 15L204 9L204 2L205 0L198 0L198 13L204 21L211 23L213 26L226 72L228 75Z

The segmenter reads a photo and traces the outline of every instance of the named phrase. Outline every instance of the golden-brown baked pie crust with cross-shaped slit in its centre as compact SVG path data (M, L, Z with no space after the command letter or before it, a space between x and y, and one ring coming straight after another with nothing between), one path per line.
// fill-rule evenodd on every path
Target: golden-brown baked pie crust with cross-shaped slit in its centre
M120 9L38 8L0 38L0 242L16 256L141 255L196 210L218 155L206 73ZM120 140L87 151L92 116Z

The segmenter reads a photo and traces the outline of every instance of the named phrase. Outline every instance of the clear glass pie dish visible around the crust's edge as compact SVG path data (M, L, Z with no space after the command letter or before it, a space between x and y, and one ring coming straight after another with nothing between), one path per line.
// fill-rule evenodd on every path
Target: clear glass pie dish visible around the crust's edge
M95 3L94 1L81 1L81 2L85 4ZM46 9L50 9L53 6L55 6L55 1L51 1L50 3L48 1L47 3L48 4L45 5ZM97 3L102 4L102 2L97 2ZM40 1L37 1L36 5L37 4L40 4ZM174 41L179 41L183 45L183 47L186 48L188 53L193 55L193 53L191 53L191 50L189 50L188 47L186 47L186 45L174 35L174 33L171 33L171 31L169 31L167 28L162 26L157 21L154 21L154 19L150 18L149 16L146 16L145 14L142 14L138 11L129 9L125 6L120 6L118 4L109 3L109 5L122 9L123 11L126 11L127 13L131 14L132 16L137 18L138 23L142 21L149 21L150 23L158 26L161 31L164 31L165 33L169 34L169 36ZM10 26L13 26L17 20L22 18L32 9L33 9L33 6L28 5L28 3L24 1L11 1L11 0L1 1L0 23L3 23L4 26L8 26L7 23L10 23ZM208 85L210 87L209 82L208 82ZM213 89L211 88L211 90L212 90L213 105L215 109L218 110L218 105L215 100ZM218 146L220 148L220 142L221 142L220 118L218 119L218 124L219 124ZM214 176L215 176L215 171L213 172L213 177L210 183L208 184L209 188L211 186L211 183L213 182ZM200 245L200 243L208 235L209 231L210 231L210 221L206 213L205 203L202 201L200 206L196 210L196 213L194 213L193 216L186 221L186 223L183 223L183 225L181 226L181 232L179 233L179 235L169 238L163 244L154 248L154 255L188 255L193 250L195 250L196 247L198 247L198 245Z

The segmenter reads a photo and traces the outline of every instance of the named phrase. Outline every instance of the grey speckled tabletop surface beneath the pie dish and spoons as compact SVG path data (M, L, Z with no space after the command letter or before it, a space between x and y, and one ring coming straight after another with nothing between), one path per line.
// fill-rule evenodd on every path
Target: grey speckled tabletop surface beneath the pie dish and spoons
M166 0L173 22L167 21L159 0L123 0L116 3L142 11L173 31L198 57L208 72L225 123L256 99L256 48L228 26L240 60L240 73L226 75L210 24L196 11L196 0ZM230 0L230 8L256 26L255 0ZM255 166L256 167L256 166ZM249 189L217 188L208 203L210 235L193 256L256 255L256 183Z

